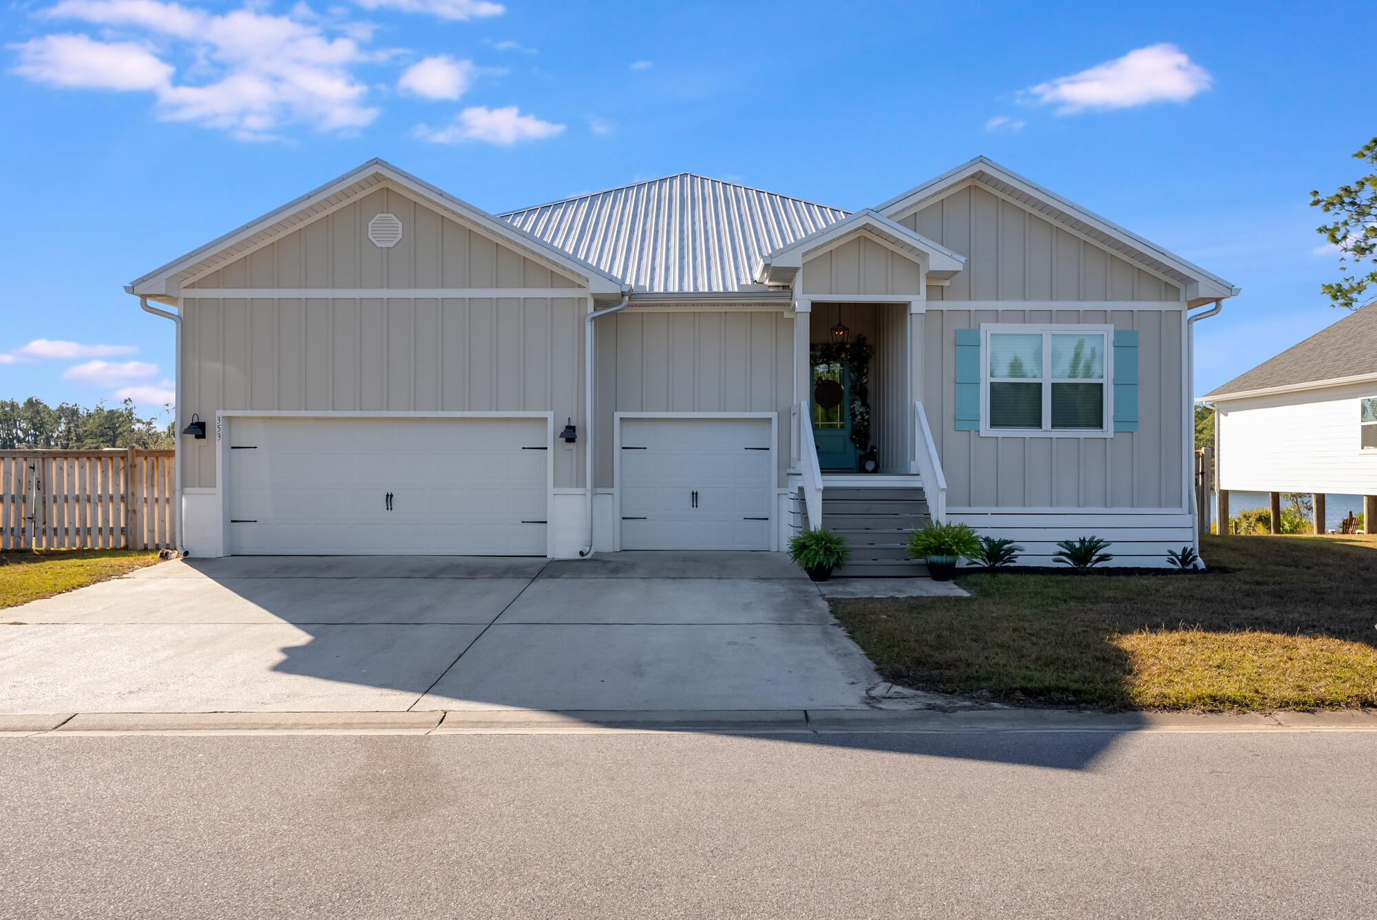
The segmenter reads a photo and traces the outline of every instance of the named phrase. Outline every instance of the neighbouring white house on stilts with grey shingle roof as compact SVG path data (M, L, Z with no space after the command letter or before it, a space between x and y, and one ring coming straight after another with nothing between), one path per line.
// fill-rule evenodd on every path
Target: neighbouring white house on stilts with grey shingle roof
M1230 492L1363 496L1369 532L1377 519L1377 302L1216 387L1216 521L1228 521Z

